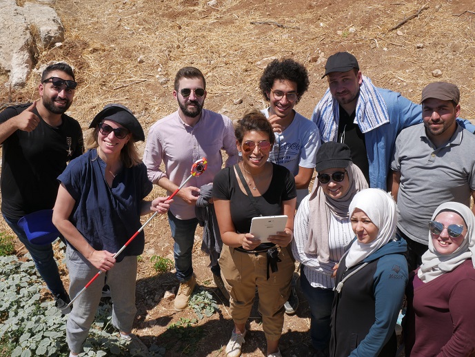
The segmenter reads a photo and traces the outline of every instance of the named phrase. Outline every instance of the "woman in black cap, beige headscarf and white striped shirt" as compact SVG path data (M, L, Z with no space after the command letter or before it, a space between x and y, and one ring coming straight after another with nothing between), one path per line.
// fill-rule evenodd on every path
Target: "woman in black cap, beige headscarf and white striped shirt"
M310 305L312 345L316 356L328 356L334 272L354 238L348 208L367 182L343 143L323 143L315 169L318 182L295 216L292 253L302 263L301 287Z

